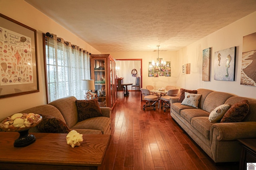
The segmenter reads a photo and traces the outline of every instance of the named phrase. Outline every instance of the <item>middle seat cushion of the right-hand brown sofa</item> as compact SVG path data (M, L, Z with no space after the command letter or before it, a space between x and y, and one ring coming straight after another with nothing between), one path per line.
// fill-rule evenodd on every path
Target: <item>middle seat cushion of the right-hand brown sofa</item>
M193 107L194 108L194 107ZM184 109L180 111L181 117L186 119L189 123L191 123L191 119L193 117L207 117L209 116L209 113L207 111L204 111L203 109Z

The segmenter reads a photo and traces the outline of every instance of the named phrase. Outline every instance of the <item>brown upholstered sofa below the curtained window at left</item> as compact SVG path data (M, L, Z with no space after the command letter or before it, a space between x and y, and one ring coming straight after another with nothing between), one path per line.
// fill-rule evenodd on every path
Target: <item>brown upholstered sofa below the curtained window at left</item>
M35 113L39 115L50 115L62 120L70 130L76 130L80 134L110 134L111 133L111 108L100 107L101 117L92 117L78 122L76 107L77 99L74 96L61 98L46 105L40 105L20 111L20 113ZM43 121L43 120L42 120ZM37 127L30 132L40 132Z

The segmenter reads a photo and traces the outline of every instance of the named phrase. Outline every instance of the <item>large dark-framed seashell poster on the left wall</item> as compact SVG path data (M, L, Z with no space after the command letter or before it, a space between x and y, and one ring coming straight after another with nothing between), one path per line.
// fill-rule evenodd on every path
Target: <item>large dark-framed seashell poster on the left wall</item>
M0 14L0 98L39 92L36 30Z

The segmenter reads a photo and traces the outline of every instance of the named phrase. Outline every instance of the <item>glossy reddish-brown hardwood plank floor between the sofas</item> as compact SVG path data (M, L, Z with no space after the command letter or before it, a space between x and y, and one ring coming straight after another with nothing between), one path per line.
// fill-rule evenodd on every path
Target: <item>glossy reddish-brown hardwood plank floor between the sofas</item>
M239 162L214 164L170 116L170 109L147 107L140 91L118 95L112 111L109 170L238 170Z

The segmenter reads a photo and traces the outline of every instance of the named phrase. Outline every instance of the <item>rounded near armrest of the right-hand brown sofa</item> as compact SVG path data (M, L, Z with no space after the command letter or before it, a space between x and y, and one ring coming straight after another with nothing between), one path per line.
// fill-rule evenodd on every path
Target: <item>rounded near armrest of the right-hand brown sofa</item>
M256 122L215 123L210 128L210 141L230 141L242 138L256 138Z

